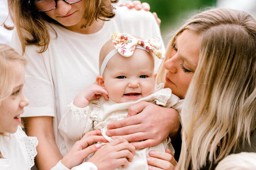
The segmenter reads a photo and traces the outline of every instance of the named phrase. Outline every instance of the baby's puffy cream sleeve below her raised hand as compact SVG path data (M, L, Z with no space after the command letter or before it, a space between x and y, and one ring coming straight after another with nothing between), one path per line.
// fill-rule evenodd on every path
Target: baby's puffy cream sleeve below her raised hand
M79 108L71 102L61 117L58 129L69 139L80 140L84 136L85 128L92 128L90 107Z

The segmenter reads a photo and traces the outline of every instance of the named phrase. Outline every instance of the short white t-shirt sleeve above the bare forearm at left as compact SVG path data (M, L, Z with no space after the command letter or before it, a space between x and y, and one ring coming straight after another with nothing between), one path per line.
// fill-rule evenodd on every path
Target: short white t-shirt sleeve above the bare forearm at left
M11 46L15 51L22 54L22 48L17 30L14 29L12 34ZM49 54L37 53L40 47L29 45L26 47L24 57L28 60L23 92L30 101L29 105L25 107L22 117L32 116L52 116L55 117L55 100L53 93L52 77L50 66L45 61L49 60ZM48 54L48 56L47 56Z

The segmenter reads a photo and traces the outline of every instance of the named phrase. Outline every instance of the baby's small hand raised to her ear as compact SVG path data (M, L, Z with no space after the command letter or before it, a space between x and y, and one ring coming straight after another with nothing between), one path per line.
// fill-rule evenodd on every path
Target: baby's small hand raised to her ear
M74 99L73 104L76 107L84 108L88 106L89 100L99 99L101 93L105 100L108 100L108 92L97 84L92 84L80 92Z

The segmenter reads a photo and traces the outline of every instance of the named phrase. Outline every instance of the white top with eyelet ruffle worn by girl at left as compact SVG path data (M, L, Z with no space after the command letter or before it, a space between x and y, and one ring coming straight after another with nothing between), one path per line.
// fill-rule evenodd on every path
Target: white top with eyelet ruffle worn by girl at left
M36 137L29 137L18 126L15 133L0 135L0 159L1 170L29 170L34 166L34 159L37 154Z

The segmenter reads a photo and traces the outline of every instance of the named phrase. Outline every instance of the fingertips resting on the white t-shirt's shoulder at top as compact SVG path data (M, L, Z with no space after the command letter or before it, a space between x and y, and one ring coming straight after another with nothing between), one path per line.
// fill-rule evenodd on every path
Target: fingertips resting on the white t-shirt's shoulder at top
M119 6L126 6L129 9L135 8L136 10L145 10L149 11L150 10L150 5L146 2L141 3L140 1L126 1L125 4L119 4ZM160 26L161 24L161 19L157 17L156 12L152 13L154 17L156 18L157 24Z

